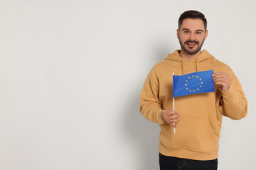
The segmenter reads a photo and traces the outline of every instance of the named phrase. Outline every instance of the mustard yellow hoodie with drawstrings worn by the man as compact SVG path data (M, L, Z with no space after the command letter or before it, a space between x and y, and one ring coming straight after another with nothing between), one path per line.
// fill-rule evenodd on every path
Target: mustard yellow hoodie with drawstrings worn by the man
M247 100L242 86L228 65L215 59L206 50L193 60L179 56L179 50L169 54L156 64L144 83L139 111L145 118L159 123L159 152L166 156L196 160L218 158L220 128L223 115L231 119L241 119L247 115ZM230 75L228 91L215 86L215 92L193 94L175 98L175 110L182 120L174 128L164 123L161 112L173 111L172 74L183 75L213 69Z

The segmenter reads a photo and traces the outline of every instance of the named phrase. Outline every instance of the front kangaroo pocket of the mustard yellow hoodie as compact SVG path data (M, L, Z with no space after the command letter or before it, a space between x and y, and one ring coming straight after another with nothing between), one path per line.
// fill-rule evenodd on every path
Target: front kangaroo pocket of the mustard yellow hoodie
M160 142L171 149L187 149L193 152L213 152L218 149L218 137L214 135L206 118L182 116L174 134L171 125L161 128Z

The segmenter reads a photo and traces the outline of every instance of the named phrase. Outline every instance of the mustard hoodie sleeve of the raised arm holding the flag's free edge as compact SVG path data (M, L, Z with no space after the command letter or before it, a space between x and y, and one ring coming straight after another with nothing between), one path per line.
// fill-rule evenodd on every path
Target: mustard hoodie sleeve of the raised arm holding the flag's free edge
M230 88L222 92L220 111L228 118L239 120L247 115L247 100L242 86L233 72L230 73Z

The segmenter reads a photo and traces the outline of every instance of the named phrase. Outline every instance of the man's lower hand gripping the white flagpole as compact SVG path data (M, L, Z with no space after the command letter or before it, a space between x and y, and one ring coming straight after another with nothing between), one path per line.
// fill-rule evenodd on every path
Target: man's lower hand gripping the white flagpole
M170 111L169 109L164 110L161 113L161 116L165 123L174 126L174 128L178 127L175 123L181 120L179 117L181 116L181 113L178 113L178 111Z

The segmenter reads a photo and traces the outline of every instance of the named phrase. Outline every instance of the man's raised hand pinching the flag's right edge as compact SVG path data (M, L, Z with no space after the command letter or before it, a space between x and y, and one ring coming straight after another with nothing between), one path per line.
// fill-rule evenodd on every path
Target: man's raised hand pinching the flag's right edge
M227 91L230 88L230 76L225 72L215 72L213 75L213 82L219 85L222 91Z

